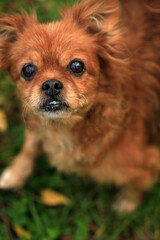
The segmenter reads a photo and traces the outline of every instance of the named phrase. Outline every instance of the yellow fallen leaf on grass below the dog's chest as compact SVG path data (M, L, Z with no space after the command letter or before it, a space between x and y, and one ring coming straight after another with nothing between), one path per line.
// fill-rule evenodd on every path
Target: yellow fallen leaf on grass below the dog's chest
M65 205L70 202L69 198L51 189L42 190L41 199L48 206Z

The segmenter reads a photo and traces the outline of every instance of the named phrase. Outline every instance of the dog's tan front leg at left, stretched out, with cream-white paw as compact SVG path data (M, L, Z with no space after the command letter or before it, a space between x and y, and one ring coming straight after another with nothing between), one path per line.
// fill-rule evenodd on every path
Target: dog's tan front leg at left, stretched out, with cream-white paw
M33 171L34 162L40 152L40 142L34 132L27 130L26 139L19 155L15 157L0 178L0 188L20 188Z

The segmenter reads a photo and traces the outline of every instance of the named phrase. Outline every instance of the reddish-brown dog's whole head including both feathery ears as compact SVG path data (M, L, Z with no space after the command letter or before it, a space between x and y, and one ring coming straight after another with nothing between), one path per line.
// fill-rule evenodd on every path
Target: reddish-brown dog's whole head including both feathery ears
M116 0L88 0L61 15L44 24L35 13L0 18L0 69L10 71L23 103L47 119L91 108L117 42Z

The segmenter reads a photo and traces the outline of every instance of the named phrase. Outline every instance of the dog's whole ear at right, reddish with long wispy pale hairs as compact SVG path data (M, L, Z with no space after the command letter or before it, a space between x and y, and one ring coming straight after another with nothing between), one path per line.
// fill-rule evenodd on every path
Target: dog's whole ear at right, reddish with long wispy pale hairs
M95 40L97 54L102 60L122 61L126 58L121 39L118 0L84 0L73 8L67 7L60 12L62 19L78 24Z

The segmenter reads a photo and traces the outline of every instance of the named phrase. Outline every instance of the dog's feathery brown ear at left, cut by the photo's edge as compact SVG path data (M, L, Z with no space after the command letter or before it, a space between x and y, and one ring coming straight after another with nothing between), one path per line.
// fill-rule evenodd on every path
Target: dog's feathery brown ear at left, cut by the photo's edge
M24 10L21 11L21 15L3 15L0 17L0 70L8 70L11 47L23 33L25 27L36 20L35 12L29 17Z

